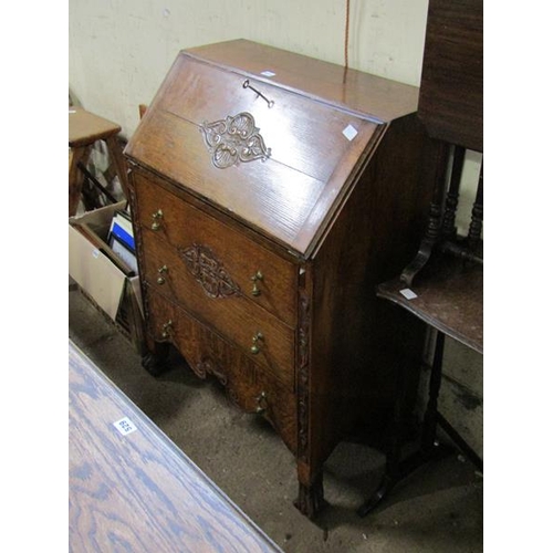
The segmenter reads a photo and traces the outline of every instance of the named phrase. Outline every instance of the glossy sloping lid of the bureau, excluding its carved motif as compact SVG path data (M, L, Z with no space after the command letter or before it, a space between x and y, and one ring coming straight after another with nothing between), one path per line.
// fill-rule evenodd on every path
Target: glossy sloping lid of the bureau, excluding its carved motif
M252 85L274 101L269 108L255 93L243 88L243 82L244 74L182 52L125 153L305 254L315 247L322 223L335 209L344 186L347 188L345 177L375 142L382 125L366 113L314 102L305 93L252 79ZM386 88L379 94L390 92L397 91ZM200 125L242 112L254 117L271 148L270 158L215 167ZM346 129L353 135L344 135Z

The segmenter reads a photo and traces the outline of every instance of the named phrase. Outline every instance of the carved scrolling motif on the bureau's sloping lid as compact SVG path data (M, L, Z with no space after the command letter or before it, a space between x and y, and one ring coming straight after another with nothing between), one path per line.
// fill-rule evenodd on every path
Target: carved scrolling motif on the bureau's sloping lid
M253 116L247 112L213 123L205 122L200 131L211 161L219 169L240 165L240 161L264 161L271 156L271 148L265 146Z

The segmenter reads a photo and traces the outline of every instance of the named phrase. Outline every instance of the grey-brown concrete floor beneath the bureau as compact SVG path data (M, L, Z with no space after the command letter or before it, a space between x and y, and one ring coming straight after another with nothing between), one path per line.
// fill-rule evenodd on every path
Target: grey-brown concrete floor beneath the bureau
M178 358L154 378L127 340L70 285L69 335L285 552L483 551L483 481L462 457L421 467L361 519L384 458L344 442L325 465L330 505L312 522L293 507L295 463L273 430L240 413L213 380Z

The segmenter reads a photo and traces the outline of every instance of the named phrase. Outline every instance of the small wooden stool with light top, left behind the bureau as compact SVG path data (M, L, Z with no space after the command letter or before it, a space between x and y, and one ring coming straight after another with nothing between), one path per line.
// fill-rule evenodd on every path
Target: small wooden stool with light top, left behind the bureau
M104 140L111 160L119 178L121 187L127 197L127 171L123 152L117 143L119 125L98 117L81 107L69 111L69 215L74 216L81 199L84 174L79 165L86 165L96 140Z

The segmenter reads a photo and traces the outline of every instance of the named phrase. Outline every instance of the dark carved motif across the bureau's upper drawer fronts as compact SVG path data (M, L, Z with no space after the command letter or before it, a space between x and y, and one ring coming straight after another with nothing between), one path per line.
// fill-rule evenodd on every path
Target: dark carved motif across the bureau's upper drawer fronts
M201 244L179 248L185 265L209 298L229 298L240 292L213 252Z

